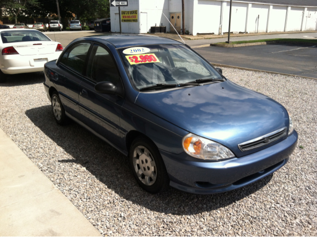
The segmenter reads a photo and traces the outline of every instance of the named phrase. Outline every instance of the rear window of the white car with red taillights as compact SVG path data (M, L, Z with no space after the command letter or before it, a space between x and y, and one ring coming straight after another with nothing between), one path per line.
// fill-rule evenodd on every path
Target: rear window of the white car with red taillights
M51 41L46 35L36 30L1 31L1 39L3 43Z

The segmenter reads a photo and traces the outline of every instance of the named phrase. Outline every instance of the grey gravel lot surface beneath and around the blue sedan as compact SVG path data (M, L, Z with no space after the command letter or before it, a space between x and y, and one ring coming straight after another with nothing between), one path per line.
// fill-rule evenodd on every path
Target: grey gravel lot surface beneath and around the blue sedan
M43 73L0 84L0 127L105 236L316 236L317 81L223 74L283 104L299 133L284 167L226 193L143 191L121 153L76 123L55 123Z

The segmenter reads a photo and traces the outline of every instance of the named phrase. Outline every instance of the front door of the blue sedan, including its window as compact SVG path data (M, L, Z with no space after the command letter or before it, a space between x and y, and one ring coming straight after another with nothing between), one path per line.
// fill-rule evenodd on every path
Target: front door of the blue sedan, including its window
M80 84L80 113L85 117L85 124L109 142L121 147L119 115L124 98L97 93L95 85L103 81L109 81L123 88L110 51L106 47L94 44L88 59L86 78Z

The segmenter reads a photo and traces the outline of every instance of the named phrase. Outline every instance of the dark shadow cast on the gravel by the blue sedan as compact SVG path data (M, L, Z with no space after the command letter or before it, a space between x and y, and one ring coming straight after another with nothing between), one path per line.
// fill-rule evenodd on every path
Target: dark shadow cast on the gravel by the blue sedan
M67 126L57 125L51 106L27 110L26 115L35 126L73 157L56 157L57 162L64 165L80 164L105 184L106 188L122 198L159 213L193 215L216 210L262 189L273 177L271 174L246 187L212 195L191 194L173 188L159 194L150 194L142 190L134 180L126 156L75 122Z

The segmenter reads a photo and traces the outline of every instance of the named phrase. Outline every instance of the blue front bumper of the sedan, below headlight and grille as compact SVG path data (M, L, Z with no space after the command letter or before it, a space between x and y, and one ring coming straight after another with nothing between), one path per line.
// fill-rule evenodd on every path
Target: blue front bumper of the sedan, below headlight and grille
M287 139L256 153L223 161L203 161L185 152L172 154L160 150L170 186L198 194L234 190L251 184L281 168L297 144L293 132Z

